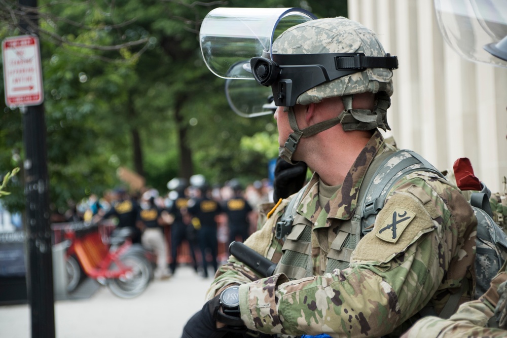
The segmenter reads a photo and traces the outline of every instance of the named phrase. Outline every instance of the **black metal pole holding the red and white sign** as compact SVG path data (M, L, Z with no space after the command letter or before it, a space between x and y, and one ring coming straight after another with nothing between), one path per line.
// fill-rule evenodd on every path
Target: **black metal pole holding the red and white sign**
M21 7L37 7L37 0L19 0ZM22 30L38 34L28 25L38 24L37 15L21 21ZM31 308L32 338L55 337L53 260L51 247L49 178L46 160L44 105L20 107L23 114L23 163L26 196L26 285Z

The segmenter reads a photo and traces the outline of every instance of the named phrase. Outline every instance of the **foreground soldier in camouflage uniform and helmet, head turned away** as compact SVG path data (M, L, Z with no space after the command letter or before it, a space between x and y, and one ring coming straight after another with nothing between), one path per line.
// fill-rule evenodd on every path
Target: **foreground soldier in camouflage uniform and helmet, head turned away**
M388 57L374 32L343 17L287 29L273 53ZM202 316L185 330L207 311L224 327L217 297L231 285L239 285L244 326L280 337L399 335L427 305L438 314L452 293L461 294L461 303L472 298L477 220L448 181L425 171L400 177L364 237L351 219L368 168L394 151L377 129L389 129L391 77L387 67L366 67L278 107L280 156L305 162L314 175L286 238L276 238L275 228L296 195L278 201L245 241L277 263L275 274L263 278L231 256L215 275ZM190 331L184 337L196 337Z

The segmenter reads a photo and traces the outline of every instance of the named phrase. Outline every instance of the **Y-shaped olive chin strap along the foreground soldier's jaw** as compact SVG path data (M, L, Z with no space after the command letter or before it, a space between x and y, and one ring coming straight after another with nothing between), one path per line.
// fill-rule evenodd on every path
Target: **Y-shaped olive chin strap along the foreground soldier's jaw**
M288 135L287 141L283 147L278 148L278 155L290 164L296 164L292 161L292 156L296 152L296 148L298 146L299 140L303 137L310 137L315 134L320 133L326 129L329 129L333 126L336 126L340 123L340 118L336 117L330 120L322 121L313 126L307 127L303 130L299 129L298 122L296 121L296 114L294 112L294 107L288 107L288 122L291 125L291 128L294 132Z

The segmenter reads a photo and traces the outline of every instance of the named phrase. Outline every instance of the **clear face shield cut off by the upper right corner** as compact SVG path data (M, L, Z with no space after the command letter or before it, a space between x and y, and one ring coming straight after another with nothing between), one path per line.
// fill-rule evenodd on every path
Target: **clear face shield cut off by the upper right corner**
M462 57L507 67L505 0L434 0L444 40Z

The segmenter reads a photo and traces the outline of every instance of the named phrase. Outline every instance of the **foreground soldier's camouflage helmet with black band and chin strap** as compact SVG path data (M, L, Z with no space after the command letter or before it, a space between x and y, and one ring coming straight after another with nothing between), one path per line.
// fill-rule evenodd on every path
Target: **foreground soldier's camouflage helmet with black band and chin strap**
M292 109L287 109L294 133L280 149L280 156L288 162L291 162L299 138L315 135L338 123L346 131L375 128L390 130L386 110L393 93L391 69L397 68L397 58L385 53L376 34L369 28L345 17L307 21L281 33L273 42L272 61L268 57L266 51L263 57L252 58L250 64L259 84L267 85L271 82L275 97L285 95L275 93L277 88L283 87L280 86L283 78L293 77L290 79L291 86L300 86L299 82L303 83L303 87L299 90L292 89L290 94L297 95L297 98L292 97L291 103L318 103L325 98L341 96L344 104L344 110L337 118L304 130L299 130ZM305 66L322 69L322 79L314 80L320 76L318 70L313 70L309 76L310 72L305 70ZM299 73L301 70L303 73L306 71L304 76L300 77L296 71L293 75L290 74L292 68L298 67ZM269 81L269 77L275 80ZM366 92L376 94L373 111L352 109L353 95Z

